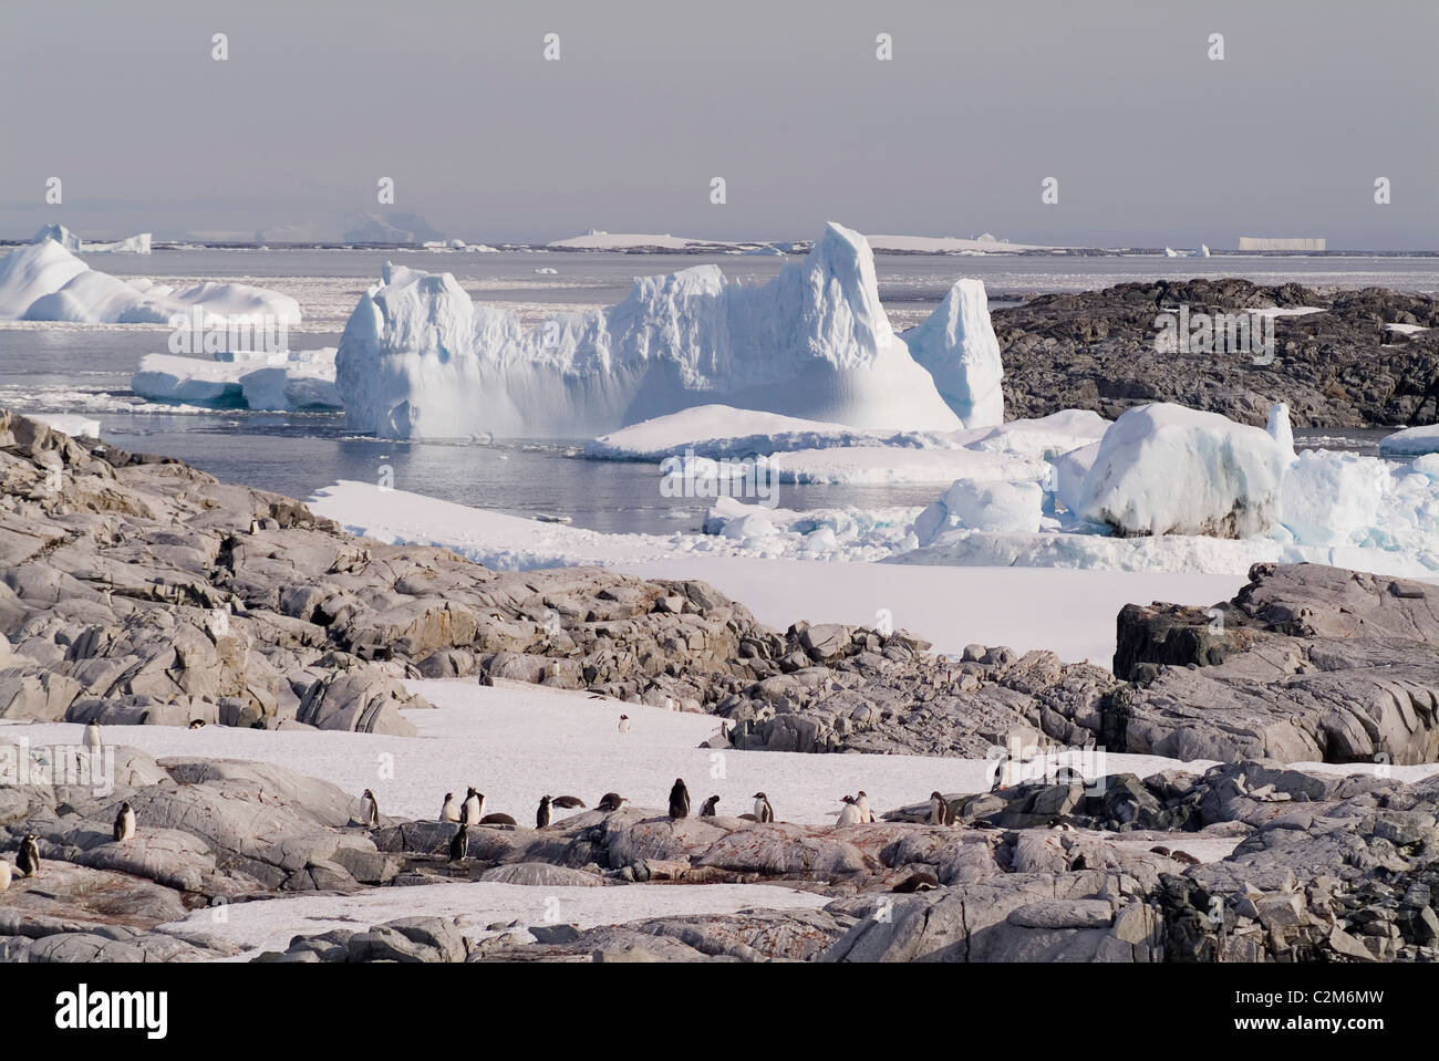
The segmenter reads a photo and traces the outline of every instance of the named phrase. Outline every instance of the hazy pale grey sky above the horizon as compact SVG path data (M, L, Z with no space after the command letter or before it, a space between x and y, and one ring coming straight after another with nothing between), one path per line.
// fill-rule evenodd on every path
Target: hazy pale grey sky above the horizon
M0 239L1435 250L1436 45L1433 0L3 0Z

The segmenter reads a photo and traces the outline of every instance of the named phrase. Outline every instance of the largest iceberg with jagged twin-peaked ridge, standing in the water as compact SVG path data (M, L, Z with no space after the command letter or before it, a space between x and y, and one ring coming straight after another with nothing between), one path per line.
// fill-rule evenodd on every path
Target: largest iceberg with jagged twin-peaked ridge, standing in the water
M767 285L705 265L531 329L449 273L387 265L337 365L350 427L400 438L589 437L714 403L862 430L961 427L889 326L865 237L837 224Z

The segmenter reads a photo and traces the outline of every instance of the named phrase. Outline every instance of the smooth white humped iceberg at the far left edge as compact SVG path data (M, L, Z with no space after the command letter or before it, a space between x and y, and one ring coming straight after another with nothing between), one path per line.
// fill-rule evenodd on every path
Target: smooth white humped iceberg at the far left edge
M101 273L55 240L29 243L0 259L0 319L78 323L171 323L193 311L222 318L266 316L299 323L288 295L245 283L171 288Z

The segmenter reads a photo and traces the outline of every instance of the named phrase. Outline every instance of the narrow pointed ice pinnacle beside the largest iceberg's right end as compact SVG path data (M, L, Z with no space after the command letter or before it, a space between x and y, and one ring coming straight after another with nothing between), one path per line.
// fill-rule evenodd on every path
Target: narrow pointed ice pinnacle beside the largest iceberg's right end
M966 427L1004 423L1004 365L983 280L957 280L940 308L902 338Z

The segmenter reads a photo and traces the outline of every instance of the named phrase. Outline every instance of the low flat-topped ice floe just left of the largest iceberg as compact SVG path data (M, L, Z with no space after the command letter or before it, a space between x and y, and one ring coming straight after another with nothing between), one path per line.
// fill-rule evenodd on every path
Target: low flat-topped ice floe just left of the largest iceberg
M147 354L130 387L150 401L268 411L340 408L334 346L224 357Z

